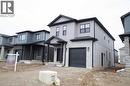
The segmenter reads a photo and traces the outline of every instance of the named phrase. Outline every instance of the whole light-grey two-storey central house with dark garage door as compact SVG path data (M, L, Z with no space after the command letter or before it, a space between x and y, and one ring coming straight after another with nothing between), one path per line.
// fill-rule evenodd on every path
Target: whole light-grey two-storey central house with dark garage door
M55 64L70 67L114 66L114 38L94 18L77 20L59 15L50 24L46 44L54 47ZM50 58L48 58L50 59Z

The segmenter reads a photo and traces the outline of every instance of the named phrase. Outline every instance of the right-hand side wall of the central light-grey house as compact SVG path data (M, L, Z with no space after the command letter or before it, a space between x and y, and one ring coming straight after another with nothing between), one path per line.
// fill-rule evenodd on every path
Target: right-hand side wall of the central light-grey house
M101 53L104 53L104 67L114 66L114 41L95 23L94 66L101 67ZM105 39L104 39L105 37Z

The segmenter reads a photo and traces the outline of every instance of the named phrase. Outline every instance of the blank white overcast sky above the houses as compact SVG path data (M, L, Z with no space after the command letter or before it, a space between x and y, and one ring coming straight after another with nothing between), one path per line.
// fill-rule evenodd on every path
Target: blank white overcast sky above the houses
M59 14L75 19L97 17L116 39L115 49L123 47L120 17L130 12L130 0L14 0L14 17L0 17L0 33L15 35L25 30L50 30L47 24Z

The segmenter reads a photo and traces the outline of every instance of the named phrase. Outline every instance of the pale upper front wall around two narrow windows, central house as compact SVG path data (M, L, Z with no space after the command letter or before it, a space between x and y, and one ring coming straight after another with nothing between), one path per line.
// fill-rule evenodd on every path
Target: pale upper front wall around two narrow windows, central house
M63 26L67 26L67 32L66 36L62 35L63 32ZM51 36L56 36L56 28L59 27L60 33L59 33L59 38L64 39L65 41L69 41L70 39L73 39L75 37L75 23L66 23L66 24L61 24L57 26L52 26L50 27L50 37Z

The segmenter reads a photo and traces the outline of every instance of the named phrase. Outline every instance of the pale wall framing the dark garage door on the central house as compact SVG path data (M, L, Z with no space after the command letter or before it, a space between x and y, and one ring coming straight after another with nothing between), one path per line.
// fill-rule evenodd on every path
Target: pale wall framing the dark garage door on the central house
M79 42L68 42L66 51L66 64L65 66L69 66L69 48L86 48L86 68L92 68L92 41L79 41ZM87 48L89 47L89 51Z

